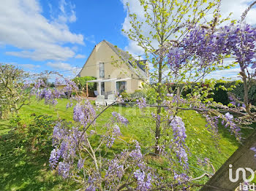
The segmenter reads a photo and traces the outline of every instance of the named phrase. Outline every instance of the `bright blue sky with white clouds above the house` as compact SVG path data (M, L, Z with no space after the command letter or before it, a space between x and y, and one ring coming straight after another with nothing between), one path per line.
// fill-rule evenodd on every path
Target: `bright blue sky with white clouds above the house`
M122 28L130 27L124 6L127 1L131 11L141 15L138 0L4 1L0 6L0 62L31 72L65 71L66 76L72 77L103 39L139 55L142 51L136 42L121 33ZM233 12L233 19L238 19L249 2L222 1L223 17ZM247 23L256 24L255 17L256 9L252 9ZM234 76L237 72L232 69L225 74ZM222 72L212 74L222 76Z

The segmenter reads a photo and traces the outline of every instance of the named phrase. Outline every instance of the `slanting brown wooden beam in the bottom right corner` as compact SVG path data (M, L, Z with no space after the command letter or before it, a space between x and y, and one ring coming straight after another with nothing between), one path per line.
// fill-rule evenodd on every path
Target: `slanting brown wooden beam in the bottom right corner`
M236 152L227 159L221 168L208 180L208 182L201 188L200 191L213 191L213 190L235 190L241 182L244 182L243 176L240 173L237 182L231 182L229 178L230 165L232 165L232 178L236 178L236 170L238 168L252 168L256 170L255 152L251 150L256 147L256 130L253 131L251 136L246 139L244 145L241 145ZM246 178L251 175L246 171ZM217 189L218 188L218 189Z

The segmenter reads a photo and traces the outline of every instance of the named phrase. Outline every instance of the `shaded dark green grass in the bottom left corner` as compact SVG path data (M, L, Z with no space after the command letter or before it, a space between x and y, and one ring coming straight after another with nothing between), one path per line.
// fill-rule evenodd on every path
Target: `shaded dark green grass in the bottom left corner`
M75 190L50 171L49 153L33 154L22 148L10 134L1 136L0 190Z

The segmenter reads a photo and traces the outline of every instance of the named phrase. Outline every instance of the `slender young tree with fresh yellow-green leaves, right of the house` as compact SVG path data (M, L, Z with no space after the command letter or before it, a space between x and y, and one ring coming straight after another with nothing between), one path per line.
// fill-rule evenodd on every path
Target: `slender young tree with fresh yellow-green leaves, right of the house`
M167 53L170 49L170 43L176 44L184 36L186 36L189 28L197 26L198 23L208 13L212 13L215 17L217 15L217 7L219 1L210 1L207 3L206 0L194 1L176 1L176 0L138 0L141 7L143 8L143 16L136 15L130 12L129 4L127 3L128 14L130 18L131 29L124 31L125 34L138 45L143 48L146 52L146 57L154 66L154 69L150 72L150 76L153 78L156 85L153 87L157 91L157 116L159 120L156 122L155 128L155 139L156 148L155 153L159 154L159 139L161 136L161 105L165 100L166 86L165 82L168 82L170 78L176 77L176 81L184 81L188 71L192 73L192 64L184 67L184 71L181 75L174 75L173 71L170 70L170 65L167 64ZM143 20L143 21L140 21ZM215 25L214 20L209 21L211 25ZM174 63L173 63L174 64ZM189 68L190 67L190 68ZM200 71L195 70L197 73L195 77L200 78L200 73L203 72L203 76L213 69L201 69ZM167 74L167 75L166 75ZM196 80L196 79L195 79Z

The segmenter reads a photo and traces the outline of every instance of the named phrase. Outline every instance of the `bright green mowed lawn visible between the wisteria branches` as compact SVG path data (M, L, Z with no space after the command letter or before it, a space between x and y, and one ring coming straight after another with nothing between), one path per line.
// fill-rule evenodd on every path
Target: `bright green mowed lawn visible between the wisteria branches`
M43 101L33 101L29 106L23 106L20 110L20 117L23 120L31 120L31 115L48 114L57 119L59 117L68 121L72 120L72 108L66 109L67 99L59 100L56 108L45 106ZM97 113L100 112L100 109ZM154 145L155 122L148 118L154 108L146 109L146 114L141 114L137 107L112 106L100 115L97 119L96 127L102 130L105 122L108 122L112 112L118 112L127 117L129 124L121 126L121 139L132 143L136 139L143 148ZM230 132L220 126L219 149L216 141L211 139L211 133L206 128L206 120L197 112L181 112L181 117L187 128L187 145L190 148L189 165L191 176L203 174L203 168L197 165L197 157L203 159L208 157L216 169L227 160L238 148L238 142ZM0 190L76 190L75 185L64 181L56 176L56 171L48 168L49 153L34 155L33 153L19 152L12 144L4 140L7 132L11 129L8 121L0 121ZM248 136L251 130L243 130L244 137ZM96 144L96 142L95 142ZM124 148L121 141L116 141L116 146L112 152L119 152ZM7 155L10 152L10 155ZM15 154L13 154L15 153ZM2 157L4 156L4 157ZM6 158L7 157L7 158ZM148 155L148 163L159 170L159 174L164 174L167 164ZM206 171L210 169L206 169ZM207 178L200 182L206 182Z

